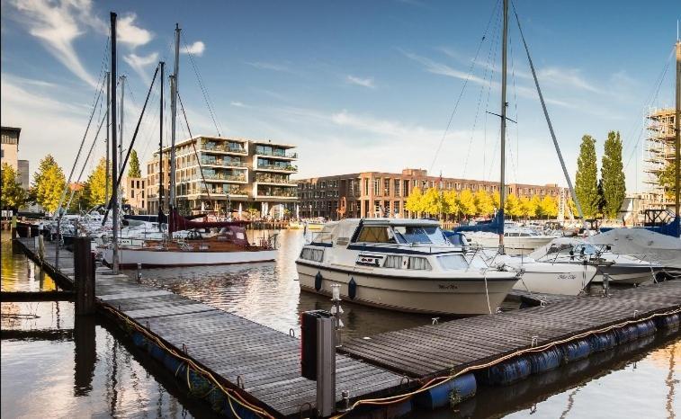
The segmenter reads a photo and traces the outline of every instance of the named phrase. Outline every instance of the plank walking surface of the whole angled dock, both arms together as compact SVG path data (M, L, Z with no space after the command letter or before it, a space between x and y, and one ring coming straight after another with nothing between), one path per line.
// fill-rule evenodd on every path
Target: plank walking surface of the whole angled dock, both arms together
M29 240L17 242L36 257ZM46 243L43 266L72 282L73 256L62 252L57 269L55 245ZM300 377L300 340L126 275L112 275L106 268L96 272L96 297L99 310L119 325L133 325L157 338L269 415L300 417L313 411L316 384ZM681 281L613 290L607 298L548 299L544 307L353 339L336 357L336 401L344 390L350 392L351 403L403 394L429 379L518 351L675 310L681 310Z

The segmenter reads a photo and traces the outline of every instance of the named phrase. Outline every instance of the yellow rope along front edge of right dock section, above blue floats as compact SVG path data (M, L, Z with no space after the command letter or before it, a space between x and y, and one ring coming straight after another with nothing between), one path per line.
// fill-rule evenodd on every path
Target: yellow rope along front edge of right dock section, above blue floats
M583 338L585 338L589 335L592 335L592 334L601 334L601 333L609 332L613 329L622 328L626 325L632 325L632 324L635 324L635 323L645 322L645 321L648 321L648 320L655 318L655 317L658 317L658 316L671 316L671 315L675 315L677 313L681 313L681 308L675 308L673 310L670 310L670 311L667 311L667 312L662 312L662 313L653 313L652 315L645 317L645 318L637 318L635 320L627 320L623 323L619 323L619 324L616 324L616 325L610 325L610 326L607 326L607 327L603 327L601 329L590 330L588 332L584 332L582 334L576 334L574 336L571 336L571 337L566 338L566 339L561 339L559 341L554 341L554 342L551 342L551 343L545 343L542 346L535 346L535 347L531 347L531 348L522 349L522 350L519 350L519 351L516 351L516 352L512 352L512 353L509 353L505 356L497 358L494 361L489 361L489 362L484 363L484 364L471 365L471 366L466 367L463 370L461 370L457 373L454 373L452 375L435 377L434 379L428 380L428 382L426 382L426 384L424 384L420 388L417 388L416 390L411 391L411 392L406 393L406 394L403 394L403 395L382 397L382 398L366 398L366 399L357 400L356 402L354 402L353 406L351 406L344 413L342 413L341 415L332 416L331 419L339 419L339 418L349 414L350 412L352 412L355 407L361 406L361 405L387 406L387 405L392 405L392 404L396 404L396 403L406 401L410 397L413 397L413 396L416 396L419 393L423 393L425 391L428 391L431 388L435 388L437 386L440 386L440 385L442 385L442 384L444 384L448 381L451 381L453 379L456 379L457 377L459 377L463 374L466 374L470 371L484 370L486 368L497 365L498 363L501 363L503 361L507 361L511 358L514 358L515 356L523 355L524 353L542 352L542 351L545 351L547 349L550 349L553 346L556 346L556 345L559 345L559 344L562 344L562 343L569 343L569 342L572 342L572 341L575 341L575 340L578 340L578 339L583 339Z

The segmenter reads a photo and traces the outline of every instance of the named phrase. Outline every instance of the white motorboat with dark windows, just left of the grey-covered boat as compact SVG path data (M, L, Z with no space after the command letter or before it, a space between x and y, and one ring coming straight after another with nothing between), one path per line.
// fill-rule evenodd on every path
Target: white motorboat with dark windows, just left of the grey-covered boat
M650 263L626 254L616 254L606 246L591 245L578 237L560 237L528 255L533 259L551 264L573 266L593 265L596 276L593 282L603 282L603 275L610 281L623 284L640 284L652 281L661 269L659 263Z

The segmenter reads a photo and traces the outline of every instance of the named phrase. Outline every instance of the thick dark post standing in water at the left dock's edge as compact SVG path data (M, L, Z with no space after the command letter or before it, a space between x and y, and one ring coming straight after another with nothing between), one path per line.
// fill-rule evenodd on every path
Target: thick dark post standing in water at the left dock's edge
M94 314L94 254L92 239L74 237L74 273L76 277L76 316Z

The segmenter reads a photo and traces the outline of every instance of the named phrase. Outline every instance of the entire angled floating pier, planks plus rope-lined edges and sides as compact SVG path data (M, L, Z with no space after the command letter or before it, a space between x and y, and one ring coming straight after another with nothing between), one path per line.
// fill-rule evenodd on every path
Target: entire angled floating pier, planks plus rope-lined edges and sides
M33 238L14 243L74 288L73 254L61 249L57 261L55 243L45 242L42 257ZM316 383L300 377L295 336L103 267L96 270L95 295L98 314L170 370L187 392L223 415L313 415ZM560 354L553 367L558 368L654 334L656 328L678 334L679 312L681 282L666 281L615 290L610 297L549 299L533 308L442 323L434 319L433 325L352 339L336 355L336 406L345 406L344 391L348 405L356 406L355 416L367 413L362 408L372 403L367 399L381 399L381 417L397 417L417 405L444 406L442 397L424 403L422 396L453 385L444 392L448 404L458 379L472 380L474 394L474 376L484 379L491 369L533 354ZM528 375L529 370L511 381Z

